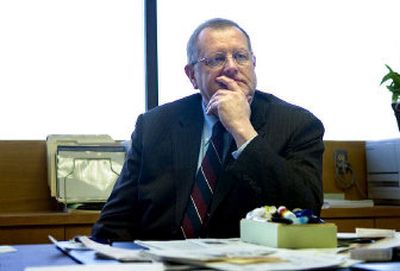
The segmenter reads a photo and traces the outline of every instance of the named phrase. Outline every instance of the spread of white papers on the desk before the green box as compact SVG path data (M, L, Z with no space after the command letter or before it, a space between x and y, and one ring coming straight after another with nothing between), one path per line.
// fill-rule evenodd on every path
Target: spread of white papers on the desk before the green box
M307 270L339 266L340 255L276 249L248 244L239 239L188 239L136 241L156 261L169 261L218 270Z

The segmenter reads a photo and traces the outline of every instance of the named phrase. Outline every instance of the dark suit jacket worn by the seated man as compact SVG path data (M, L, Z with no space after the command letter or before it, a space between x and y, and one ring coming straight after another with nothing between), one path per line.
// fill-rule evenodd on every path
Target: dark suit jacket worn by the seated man
M183 238L180 224L194 182L203 128L195 94L138 117L132 146L92 237ZM310 112L256 91L251 122L258 132L237 160L225 161L202 237L238 237L239 221L264 205L322 205L322 123ZM232 142L231 151L236 146Z

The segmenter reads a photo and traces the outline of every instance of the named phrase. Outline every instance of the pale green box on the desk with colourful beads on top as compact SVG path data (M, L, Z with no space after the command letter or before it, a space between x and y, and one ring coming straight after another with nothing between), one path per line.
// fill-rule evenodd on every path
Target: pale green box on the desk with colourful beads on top
M337 227L324 224L281 224L240 221L240 239L244 242L276 248L334 248L337 246Z

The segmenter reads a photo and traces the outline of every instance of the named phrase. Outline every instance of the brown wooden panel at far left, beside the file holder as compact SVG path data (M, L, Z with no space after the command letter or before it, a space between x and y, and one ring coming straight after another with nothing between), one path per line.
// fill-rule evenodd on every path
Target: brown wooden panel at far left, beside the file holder
M46 161L45 141L0 141L0 214L57 210Z

